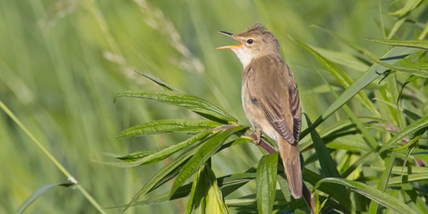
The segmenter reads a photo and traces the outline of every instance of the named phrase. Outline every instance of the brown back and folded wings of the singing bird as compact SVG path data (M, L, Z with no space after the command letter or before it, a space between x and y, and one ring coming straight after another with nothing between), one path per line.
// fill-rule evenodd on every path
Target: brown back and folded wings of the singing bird
M254 66L255 69L263 69L258 67ZM268 67L264 69L273 69L270 72L275 72L276 75L268 75L273 78L265 79L265 89L256 92L260 100L260 107L270 125L284 140L290 144L297 143L300 135L302 112L294 75L287 65L272 66L270 64ZM291 81L286 81L285 78L290 78Z

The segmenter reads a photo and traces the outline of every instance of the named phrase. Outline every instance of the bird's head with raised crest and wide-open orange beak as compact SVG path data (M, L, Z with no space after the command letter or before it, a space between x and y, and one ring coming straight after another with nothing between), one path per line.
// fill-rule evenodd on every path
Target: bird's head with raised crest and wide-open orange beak
M260 23L253 24L244 32L237 34L225 31L219 31L219 33L230 36L240 42L238 45L228 45L216 49L232 50L238 56L244 68L256 57L279 53L278 40Z

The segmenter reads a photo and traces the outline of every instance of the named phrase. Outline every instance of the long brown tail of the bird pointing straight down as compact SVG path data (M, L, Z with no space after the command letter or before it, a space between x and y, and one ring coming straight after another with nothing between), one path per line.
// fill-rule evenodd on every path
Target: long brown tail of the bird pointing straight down
M279 154L284 164L288 186L295 199L302 196L302 169L300 168L300 150L297 143L291 145L282 137L278 137Z

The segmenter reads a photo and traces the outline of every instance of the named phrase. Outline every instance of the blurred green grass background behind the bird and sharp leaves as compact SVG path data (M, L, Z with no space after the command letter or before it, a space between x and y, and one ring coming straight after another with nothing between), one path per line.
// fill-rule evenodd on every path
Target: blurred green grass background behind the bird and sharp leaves
M335 80L288 35L306 44L352 53L337 38L311 27L318 24L380 55L385 51L382 45L363 40L383 37L379 4L377 0L1 0L0 99L101 206L124 204L164 162L118 169L91 160L103 159L102 152L126 154L186 137L167 134L115 140L124 128L152 119L197 117L138 99L113 104L116 92L158 88L134 69L205 98L248 124L241 107L242 65L232 51L215 48L235 43L218 30L238 33L260 21L278 38L297 78L303 112L315 119L334 100L324 93L329 90L322 87L316 71L333 84ZM382 10L393 11L403 2L381 4ZM395 22L386 15L383 21L386 30ZM401 28L411 25L406 22ZM354 79L365 70L343 69ZM354 111L364 114L359 108ZM66 180L3 112L0 145L0 213L13 213L37 188ZM217 176L243 172L260 156L250 144L233 147L214 156L214 172ZM251 193L251 188L240 191ZM186 202L134 208L128 213L179 213ZM27 212L96 211L77 190L56 187Z

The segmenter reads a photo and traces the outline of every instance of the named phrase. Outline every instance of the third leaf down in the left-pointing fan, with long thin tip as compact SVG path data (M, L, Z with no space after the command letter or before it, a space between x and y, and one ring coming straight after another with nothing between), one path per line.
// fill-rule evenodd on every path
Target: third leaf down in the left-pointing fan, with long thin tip
M129 155L116 157L120 160L128 161L125 163L123 163L123 162L119 162L119 163L118 162L104 162L104 161L96 161L96 162L104 163L104 164L107 164L110 166L124 167L124 168L140 166L143 164L157 163L160 160L168 158L169 156L171 156L175 152L178 152L181 149L184 149L187 146L190 146L193 143L198 142L199 140L203 140L205 137L207 137L211 133L212 133L212 131L203 131L203 132L200 132L200 133L194 135L193 137L190 137L189 139L187 139L181 143L162 146L162 147L159 147L156 149L143 150L140 152L131 153ZM129 162L129 161L131 161L131 162Z

